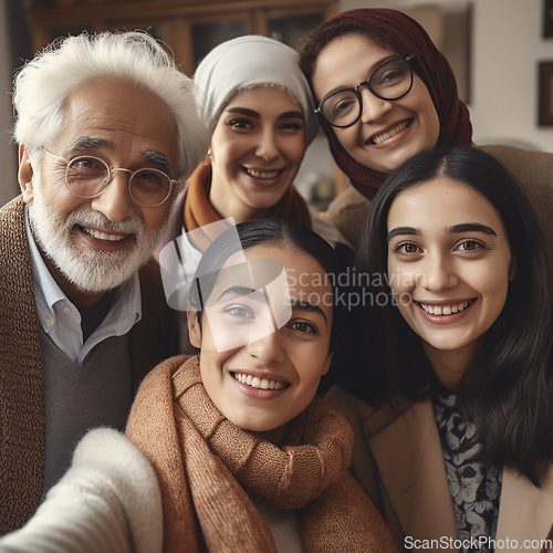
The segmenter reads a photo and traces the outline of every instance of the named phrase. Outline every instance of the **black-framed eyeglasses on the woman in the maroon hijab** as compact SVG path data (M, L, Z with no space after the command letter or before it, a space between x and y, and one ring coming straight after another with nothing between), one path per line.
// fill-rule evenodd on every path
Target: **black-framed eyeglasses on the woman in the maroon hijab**
M363 113L359 88L366 86L377 98L393 101L403 98L413 87L414 56L394 58L377 67L371 76L353 88L327 94L319 104L320 114L333 127L351 127Z

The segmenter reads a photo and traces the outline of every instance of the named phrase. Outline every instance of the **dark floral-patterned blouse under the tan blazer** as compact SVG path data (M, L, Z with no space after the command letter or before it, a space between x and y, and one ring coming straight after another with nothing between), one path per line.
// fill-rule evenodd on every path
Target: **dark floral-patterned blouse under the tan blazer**
M474 439L476 428L470 417L463 420L455 394L447 390L436 394L434 413L462 551L493 552L490 545L498 525L501 470L473 460L481 444Z

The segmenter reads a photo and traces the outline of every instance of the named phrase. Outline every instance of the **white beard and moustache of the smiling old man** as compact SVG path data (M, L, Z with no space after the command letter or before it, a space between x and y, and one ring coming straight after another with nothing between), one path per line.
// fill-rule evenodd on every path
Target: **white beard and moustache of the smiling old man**
M147 263L164 237L168 220L158 229L144 231L138 216L113 222L103 213L79 207L65 220L44 201L42 182L34 175L34 197L29 204L29 222L43 253L75 288L83 292L102 293L117 288ZM80 227L108 229L135 236L135 244L123 251L103 251L79 241Z

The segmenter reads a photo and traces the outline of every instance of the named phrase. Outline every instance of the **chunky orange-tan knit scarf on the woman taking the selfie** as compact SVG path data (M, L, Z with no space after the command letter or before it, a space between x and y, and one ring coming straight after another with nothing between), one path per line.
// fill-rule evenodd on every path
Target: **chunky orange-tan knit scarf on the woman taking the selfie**
M289 425L285 446L276 447L222 416L204 388L196 357L173 357L142 384L127 436L159 480L166 552L275 552L248 494L300 509L307 552L396 551L347 472L352 431L326 401L314 400Z

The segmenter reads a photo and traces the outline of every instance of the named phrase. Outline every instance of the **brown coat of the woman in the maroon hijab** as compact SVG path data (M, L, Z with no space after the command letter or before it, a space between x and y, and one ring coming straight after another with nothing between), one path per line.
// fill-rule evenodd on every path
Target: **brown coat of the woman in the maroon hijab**
M482 146L480 149L501 161L528 192L549 233L550 243L553 242L553 154L503 145ZM328 221L354 248L357 247L369 207L371 201L353 187L348 187L328 206Z

